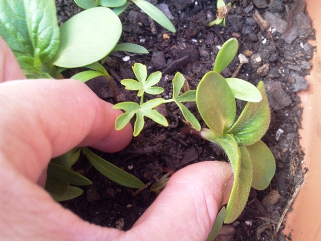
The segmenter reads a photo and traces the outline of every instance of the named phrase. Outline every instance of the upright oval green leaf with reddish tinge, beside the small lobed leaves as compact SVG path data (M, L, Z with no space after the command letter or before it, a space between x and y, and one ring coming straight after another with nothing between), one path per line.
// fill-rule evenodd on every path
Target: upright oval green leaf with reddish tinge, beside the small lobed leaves
M226 80L217 72L204 75L196 91L197 108L206 125L223 136L234 123L236 102Z

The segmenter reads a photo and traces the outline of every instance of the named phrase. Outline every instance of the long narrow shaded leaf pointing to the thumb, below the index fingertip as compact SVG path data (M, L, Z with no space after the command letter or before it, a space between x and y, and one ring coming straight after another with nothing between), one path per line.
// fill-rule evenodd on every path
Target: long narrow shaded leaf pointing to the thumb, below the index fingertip
M120 168L116 167L115 165L107 162L106 160L102 159L101 157L97 156L95 153L90 151L87 147L82 148L83 153L101 174L105 177L109 178L110 180L126 186L126 187L133 187L133 188L142 188L144 184L134 177L133 175L121 170Z

